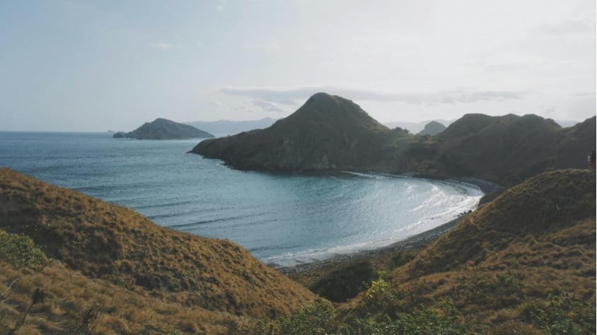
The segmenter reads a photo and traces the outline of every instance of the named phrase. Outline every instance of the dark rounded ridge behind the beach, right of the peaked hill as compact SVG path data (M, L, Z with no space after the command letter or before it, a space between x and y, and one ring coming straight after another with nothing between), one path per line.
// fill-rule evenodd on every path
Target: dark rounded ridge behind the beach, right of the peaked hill
M585 168L596 143L595 120L562 128L536 115L468 114L437 136L431 160L449 175L499 184L516 184L546 170Z

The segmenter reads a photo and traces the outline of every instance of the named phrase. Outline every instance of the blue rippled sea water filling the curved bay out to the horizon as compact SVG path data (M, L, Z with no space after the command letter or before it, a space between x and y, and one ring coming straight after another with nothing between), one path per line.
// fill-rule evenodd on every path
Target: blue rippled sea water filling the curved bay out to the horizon
M0 167L133 208L151 221L237 242L291 266L391 244L475 208L468 184L338 172L243 172L187 151L200 139L0 132Z

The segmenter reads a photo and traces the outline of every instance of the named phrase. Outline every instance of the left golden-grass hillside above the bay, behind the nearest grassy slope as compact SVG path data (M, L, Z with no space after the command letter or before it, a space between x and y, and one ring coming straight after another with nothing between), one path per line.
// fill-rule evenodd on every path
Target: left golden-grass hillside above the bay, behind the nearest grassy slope
M0 169L0 229L89 278L169 302L272 318L314 295L245 249L161 228L128 208Z

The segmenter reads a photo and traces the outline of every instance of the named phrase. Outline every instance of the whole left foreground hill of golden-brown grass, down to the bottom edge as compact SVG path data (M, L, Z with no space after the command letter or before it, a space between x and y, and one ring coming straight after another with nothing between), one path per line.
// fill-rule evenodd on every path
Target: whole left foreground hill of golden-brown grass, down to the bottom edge
M16 327L36 290L47 299L33 306L27 329L42 333L73 331L88 310L93 332L223 333L315 298L233 242L161 228L8 169L0 169L0 208L0 329Z

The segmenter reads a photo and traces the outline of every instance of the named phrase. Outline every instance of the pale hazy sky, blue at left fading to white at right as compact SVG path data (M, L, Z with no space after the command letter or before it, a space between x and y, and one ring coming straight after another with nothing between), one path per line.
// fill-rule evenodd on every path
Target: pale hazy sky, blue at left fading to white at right
M0 0L0 131L596 114L594 0Z

